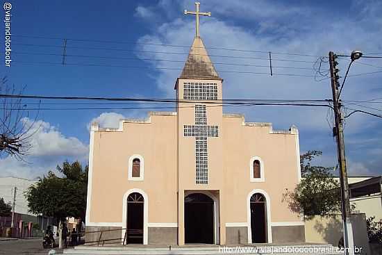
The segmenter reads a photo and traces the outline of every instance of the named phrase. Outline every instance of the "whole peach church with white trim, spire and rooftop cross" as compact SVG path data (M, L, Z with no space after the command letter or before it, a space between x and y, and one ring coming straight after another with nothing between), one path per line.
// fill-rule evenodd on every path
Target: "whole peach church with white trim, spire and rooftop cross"
M304 242L283 201L301 179L299 133L223 113L223 79L199 36L175 81L174 112L92 124L86 231L143 245ZM86 236L97 240L99 233Z

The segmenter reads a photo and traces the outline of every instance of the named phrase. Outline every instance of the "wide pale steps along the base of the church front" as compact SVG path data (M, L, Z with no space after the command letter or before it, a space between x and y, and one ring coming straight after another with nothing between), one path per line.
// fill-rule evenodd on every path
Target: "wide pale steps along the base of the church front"
M240 246L219 246L219 245L184 245L184 246L160 246L160 245L114 245L104 247L93 247L82 245L74 249L65 249L64 254L301 254L301 255L337 255L336 247L325 244L301 244L301 245L240 245Z

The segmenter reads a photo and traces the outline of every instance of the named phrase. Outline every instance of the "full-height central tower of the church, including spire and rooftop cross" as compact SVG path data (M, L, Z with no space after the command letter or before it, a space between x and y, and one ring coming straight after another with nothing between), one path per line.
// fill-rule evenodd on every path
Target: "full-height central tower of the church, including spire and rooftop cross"
M181 76L176 80L178 104L178 244L185 240L185 197L194 192L205 192L215 203L222 199L224 184L222 142L222 82L208 56L199 35L199 3L196 12L195 38L190 47ZM220 204L222 206L222 204ZM220 228L224 215L219 207L214 210L214 241L225 240L225 229ZM187 228L186 228L187 232ZM186 235L187 236L187 235Z

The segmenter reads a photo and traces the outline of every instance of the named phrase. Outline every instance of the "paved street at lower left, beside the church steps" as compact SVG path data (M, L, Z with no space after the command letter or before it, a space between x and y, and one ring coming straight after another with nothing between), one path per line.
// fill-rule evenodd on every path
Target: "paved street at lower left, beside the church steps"
M58 243L58 240L56 240ZM51 248L42 248L42 238L38 239L19 239L0 241L0 254L12 255L31 255L31 254L48 254ZM55 248L56 254L63 253L62 249Z

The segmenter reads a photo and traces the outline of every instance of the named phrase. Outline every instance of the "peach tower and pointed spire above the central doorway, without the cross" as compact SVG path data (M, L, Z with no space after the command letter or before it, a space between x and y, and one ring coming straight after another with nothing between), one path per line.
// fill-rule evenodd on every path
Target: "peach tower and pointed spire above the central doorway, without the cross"
M203 41L200 37L195 37L175 85L178 99L179 177L187 174L179 180L181 183L183 180L188 183L192 180L197 186L205 186L215 181L215 178L210 177L215 172L215 155L221 150L213 148L221 136L222 81ZM195 157L193 163L189 161L192 154ZM216 156L220 158L221 155Z

